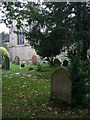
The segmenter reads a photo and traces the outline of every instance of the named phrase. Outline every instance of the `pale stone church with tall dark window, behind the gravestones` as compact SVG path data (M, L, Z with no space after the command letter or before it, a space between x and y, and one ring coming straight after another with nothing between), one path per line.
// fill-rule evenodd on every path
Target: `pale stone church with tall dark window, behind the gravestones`
M15 21L9 29L9 53L10 60L12 62L29 63L33 55L36 55L38 60L40 57L37 55L35 49L27 43L23 34L20 34L21 30L17 30L19 34L14 31L17 30Z

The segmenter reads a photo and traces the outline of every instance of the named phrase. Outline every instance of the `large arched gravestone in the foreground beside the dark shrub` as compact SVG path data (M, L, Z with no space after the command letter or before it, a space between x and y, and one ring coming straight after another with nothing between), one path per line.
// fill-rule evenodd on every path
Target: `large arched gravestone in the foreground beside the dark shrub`
M71 104L72 80L68 69L58 67L51 75L51 100Z

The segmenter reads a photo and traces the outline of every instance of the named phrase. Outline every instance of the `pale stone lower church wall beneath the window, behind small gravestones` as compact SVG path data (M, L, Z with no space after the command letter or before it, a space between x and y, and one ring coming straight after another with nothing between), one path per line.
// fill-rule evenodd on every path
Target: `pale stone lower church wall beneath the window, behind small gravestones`
M30 63L33 55L36 55L38 60L40 60L40 57L36 54L35 50L29 45L17 45L10 47L9 52L11 61L14 61L17 56L20 59L20 63Z

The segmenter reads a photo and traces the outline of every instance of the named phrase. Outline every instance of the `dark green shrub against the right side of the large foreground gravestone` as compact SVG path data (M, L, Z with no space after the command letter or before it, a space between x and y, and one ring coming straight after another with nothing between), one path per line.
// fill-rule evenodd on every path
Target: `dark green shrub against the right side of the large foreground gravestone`
M79 57L71 59L72 80L72 104L83 105L85 103L85 95L87 94L86 83L89 80L89 72L87 61L82 61Z

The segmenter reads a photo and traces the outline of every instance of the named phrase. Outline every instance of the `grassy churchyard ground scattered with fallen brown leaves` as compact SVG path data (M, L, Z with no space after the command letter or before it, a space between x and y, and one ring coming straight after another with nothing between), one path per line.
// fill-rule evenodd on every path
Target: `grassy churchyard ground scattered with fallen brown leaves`
M50 75L53 68L42 65L40 72L11 65L2 71L3 118L87 118L89 108L62 107L50 102Z

